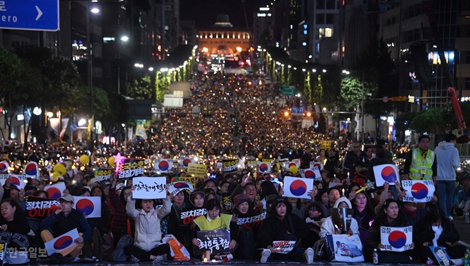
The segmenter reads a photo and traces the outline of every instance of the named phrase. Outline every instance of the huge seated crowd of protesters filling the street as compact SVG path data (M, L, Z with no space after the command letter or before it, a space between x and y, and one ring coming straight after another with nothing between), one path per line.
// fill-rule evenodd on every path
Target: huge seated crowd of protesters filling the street
M404 201L406 190L400 181L370 187L370 182L382 178L375 175L374 167L393 164L388 143L378 140L375 145L364 146L344 137L318 134L312 127L299 129L286 123L284 103L275 101L274 90L254 82L257 79L251 75L197 76L185 108L163 117L158 131L146 143L125 148L97 146L90 163L80 162L80 155L86 152L82 147L30 147L24 152L24 160L39 163L40 178L28 178L26 186L20 188L10 176L0 188L0 243L8 243L6 262L136 263L205 258L312 263L334 258L328 245L330 236L347 235L357 236L359 253L369 262L377 251L379 263L433 264L433 253L444 250L432 252L429 247L433 246L445 247L450 261L462 264L465 247L455 245L460 236L452 215L468 212L470 174L456 180L460 160L458 153L455 156L455 136L448 134L446 141L432 151L429 136L423 135L417 147L406 153L400 181L429 180L437 193L427 203ZM193 116L194 106L207 106L207 110ZM324 143L329 146L324 147ZM194 189L170 192L172 183L190 176L187 171L173 167L168 173L156 173L148 163L141 176L166 177L167 196L133 198L132 179L120 179L114 172L106 180L94 176L97 168L111 168L107 158L118 153L149 161L191 156L209 167L203 177L194 178ZM242 157L245 163L232 171L216 167L222 158ZM270 161L270 171L250 165L249 157ZM51 178L53 165L66 160L73 161L75 170ZM21 166L11 158L1 161L11 166L1 174L21 174ZM296 167L284 164L292 161L298 162ZM285 176L301 178L299 170L310 168L311 162L323 167L308 198L285 196L289 189L283 187ZM456 186L456 182L462 185ZM50 198L48 185L56 183L65 183L66 189L55 199L53 212L44 219L28 217L28 199ZM74 196L99 197L101 214L87 217L76 208ZM351 214L346 227L335 221L340 209ZM381 228L409 226L413 227L413 241L408 249L386 249ZM73 239L76 245L44 255L44 243L72 229L79 233ZM217 243L226 248L207 254L216 244L203 241L198 232L213 230L229 232L223 243ZM172 240L180 245L173 245Z

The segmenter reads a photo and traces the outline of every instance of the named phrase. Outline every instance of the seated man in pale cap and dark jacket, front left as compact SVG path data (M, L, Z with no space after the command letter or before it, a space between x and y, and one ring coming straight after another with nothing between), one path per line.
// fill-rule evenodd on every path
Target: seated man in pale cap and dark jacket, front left
M41 228L43 229L41 232L41 238L44 242L51 241L58 236L62 236L62 234L65 234L72 229L77 229L80 236L73 240L77 245L59 252L62 256L70 255L71 260L68 262L77 260L80 252L82 252L84 242L91 238L92 232L83 213L77 211L77 209L73 209L73 204L74 200L71 194L62 194L59 198L60 209L57 209L53 214L50 214L41 222ZM51 257L56 260L58 258L57 256Z

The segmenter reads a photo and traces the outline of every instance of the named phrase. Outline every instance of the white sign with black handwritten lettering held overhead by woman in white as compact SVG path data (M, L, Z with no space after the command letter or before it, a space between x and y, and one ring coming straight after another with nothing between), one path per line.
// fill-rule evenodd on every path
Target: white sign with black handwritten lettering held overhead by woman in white
M167 190L164 187L167 184L167 178L165 177L134 177L132 184L135 187L135 190L132 191L133 198L154 199L167 197Z

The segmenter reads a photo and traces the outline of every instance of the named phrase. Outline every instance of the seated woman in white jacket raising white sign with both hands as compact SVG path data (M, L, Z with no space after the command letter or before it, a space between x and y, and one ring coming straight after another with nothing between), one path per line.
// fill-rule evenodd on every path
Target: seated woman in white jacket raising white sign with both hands
M135 190L135 187L132 187ZM168 191L168 187L167 187ZM163 207L155 209L155 201L151 199L138 199L135 209L135 199L130 195L127 198L126 211L135 221L134 244L127 246L124 250L129 254L133 262L165 260L170 255L168 244L162 244L162 232L160 221L171 212L170 198L164 198Z

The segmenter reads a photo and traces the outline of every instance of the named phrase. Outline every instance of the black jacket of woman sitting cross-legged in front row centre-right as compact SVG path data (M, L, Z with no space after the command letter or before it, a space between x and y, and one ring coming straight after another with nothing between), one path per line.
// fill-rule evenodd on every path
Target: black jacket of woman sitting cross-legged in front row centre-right
M294 226L294 233L299 241L305 234L306 223L302 221L301 218L295 214L285 214L283 220L277 218L277 216L270 216L266 218L263 226L261 226L258 238L259 247L267 248L268 245L272 245L272 241L280 241L285 239L279 239L281 232L288 230L292 232L289 225L289 218L292 218L292 225Z

